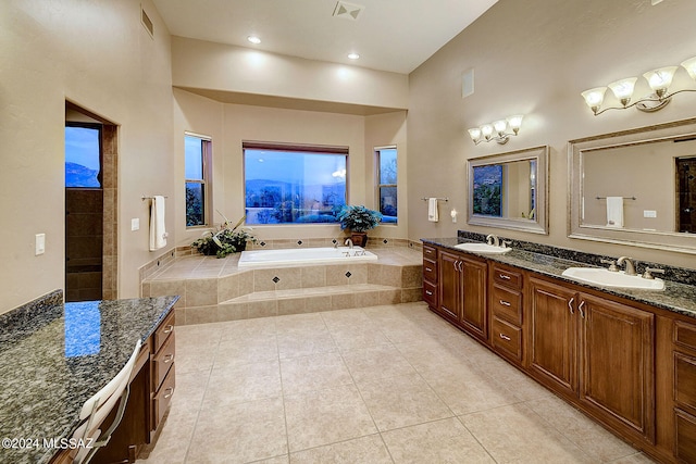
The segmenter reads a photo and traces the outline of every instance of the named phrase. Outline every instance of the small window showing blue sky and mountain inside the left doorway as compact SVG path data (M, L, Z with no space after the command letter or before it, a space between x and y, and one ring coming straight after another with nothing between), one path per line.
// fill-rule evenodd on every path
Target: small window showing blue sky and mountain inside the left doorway
M65 187L101 188L101 125L66 123Z

